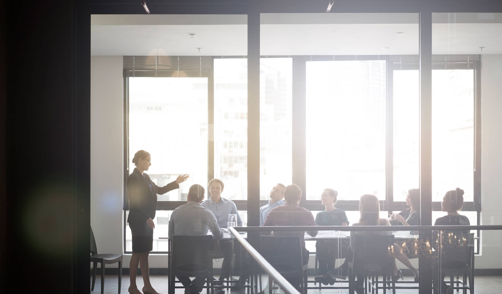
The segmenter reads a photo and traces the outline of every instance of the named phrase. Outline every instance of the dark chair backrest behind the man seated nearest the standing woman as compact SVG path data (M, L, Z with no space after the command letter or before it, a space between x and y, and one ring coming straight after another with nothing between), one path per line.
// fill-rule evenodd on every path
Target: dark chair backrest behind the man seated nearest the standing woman
M173 236L172 267L176 269L182 265L208 265L212 266L210 251L212 250L213 236Z

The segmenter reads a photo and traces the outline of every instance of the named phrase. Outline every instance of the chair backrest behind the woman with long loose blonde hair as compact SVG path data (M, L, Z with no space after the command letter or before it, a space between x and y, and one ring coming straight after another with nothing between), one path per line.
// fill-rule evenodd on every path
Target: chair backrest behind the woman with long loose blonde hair
M394 272L394 235L355 235L353 267L365 271Z

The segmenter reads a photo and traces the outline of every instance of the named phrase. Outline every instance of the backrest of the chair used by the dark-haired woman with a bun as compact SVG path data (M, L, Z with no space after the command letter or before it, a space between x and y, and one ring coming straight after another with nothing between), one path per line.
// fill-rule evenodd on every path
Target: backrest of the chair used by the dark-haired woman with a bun
M474 254L474 233L463 234L462 231L444 231L442 236L442 266L458 268L470 266Z

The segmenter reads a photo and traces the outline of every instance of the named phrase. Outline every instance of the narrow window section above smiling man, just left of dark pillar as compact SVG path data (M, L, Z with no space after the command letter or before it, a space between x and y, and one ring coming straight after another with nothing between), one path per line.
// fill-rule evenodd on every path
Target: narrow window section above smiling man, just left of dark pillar
M247 199L247 59L214 59L214 177L221 196Z

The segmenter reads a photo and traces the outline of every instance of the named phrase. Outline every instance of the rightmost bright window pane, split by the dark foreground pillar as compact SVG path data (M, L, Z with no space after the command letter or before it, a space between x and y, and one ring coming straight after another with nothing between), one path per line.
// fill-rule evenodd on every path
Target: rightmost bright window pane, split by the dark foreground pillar
M394 201L419 184L418 70L394 75ZM474 70L432 71L432 201L459 187L473 201Z

